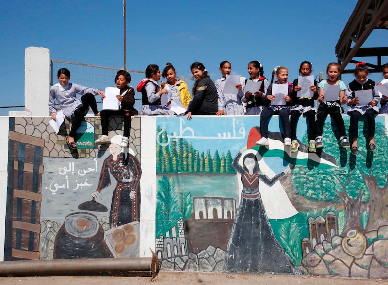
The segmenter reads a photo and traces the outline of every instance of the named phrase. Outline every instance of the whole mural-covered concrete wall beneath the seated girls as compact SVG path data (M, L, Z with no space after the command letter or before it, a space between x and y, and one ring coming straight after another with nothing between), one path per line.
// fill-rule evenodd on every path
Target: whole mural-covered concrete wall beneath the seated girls
M297 153L283 146L276 116L268 148L254 143L259 116L134 117L128 149L114 148L119 118L110 148L94 145L100 121L87 117L77 152L65 143L69 123L56 134L49 119L0 118L3 260L151 248L163 270L388 277L387 116L376 117L374 153L360 122L357 156L339 146L330 118L317 153L304 118ZM247 157L260 180L250 192Z

